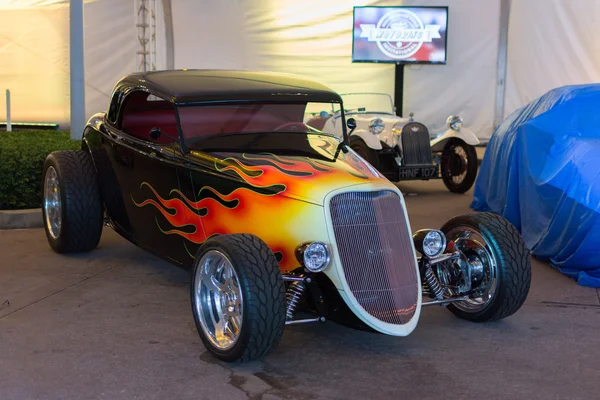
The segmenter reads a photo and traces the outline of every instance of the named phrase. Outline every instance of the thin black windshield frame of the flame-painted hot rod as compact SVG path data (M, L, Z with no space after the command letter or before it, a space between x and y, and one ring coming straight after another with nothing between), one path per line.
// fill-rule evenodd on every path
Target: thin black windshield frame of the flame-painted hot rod
M198 139L198 140L193 140L191 138L187 138L183 133L183 127L181 124L181 116L180 116L180 109L181 108L190 108L190 107L215 107L215 106L236 106L236 105L258 105L258 104L304 104L305 106L308 105L308 103L322 103L323 105L331 105L331 107L333 108L335 105L339 104L340 108L342 109L342 113L341 113L341 121L342 121L342 141L341 144L347 145L348 144L348 132L346 129L346 119L345 119L345 115L343 112L343 101L337 102L337 101L314 101L314 100L310 100L310 99L303 99L302 101L298 100L298 101L290 101L290 100L286 100L286 101L269 101L269 102L265 102L264 100L249 100L249 101L206 101L206 102L185 102L185 103L173 103L173 105L175 106L175 119L177 122L177 132L178 132L178 136L179 136L179 141L180 141L180 146L181 149L184 152L189 152L189 146L197 143L199 140L202 139ZM333 114L332 114L333 116ZM215 133L212 135L207 135L206 137L215 137L215 136L219 136L219 135L244 135L244 134L249 134L249 133L256 133L256 132L239 132L239 133ZM276 133L276 131L273 132L264 132L264 133ZM294 132L294 133L302 133L305 135L309 135L311 134L311 132ZM315 129L314 134L318 134L318 135L327 135L327 136L333 136L338 138L338 136L327 133L327 132L322 132L319 130ZM191 140L190 140L191 139Z

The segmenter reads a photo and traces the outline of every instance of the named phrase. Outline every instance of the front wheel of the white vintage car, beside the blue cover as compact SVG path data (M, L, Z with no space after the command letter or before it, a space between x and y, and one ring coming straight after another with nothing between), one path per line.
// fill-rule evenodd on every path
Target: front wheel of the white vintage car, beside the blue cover
M477 151L460 139L446 143L442 152L442 179L453 193L465 193L477 178Z

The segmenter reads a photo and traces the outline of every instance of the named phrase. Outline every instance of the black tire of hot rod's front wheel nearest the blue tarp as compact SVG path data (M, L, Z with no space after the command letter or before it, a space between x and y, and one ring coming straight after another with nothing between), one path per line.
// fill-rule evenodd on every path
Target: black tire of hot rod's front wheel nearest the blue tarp
M448 305L454 315L473 322L488 322L514 314L525 302L531 286L531 261L521 235L503 217L492 213L461 215L442 227L448 243L459 232L477 233L495 261L495 287L486 302L474 300ZM471 236L471 241L476 239ZM484 263L485 265L485 263Z

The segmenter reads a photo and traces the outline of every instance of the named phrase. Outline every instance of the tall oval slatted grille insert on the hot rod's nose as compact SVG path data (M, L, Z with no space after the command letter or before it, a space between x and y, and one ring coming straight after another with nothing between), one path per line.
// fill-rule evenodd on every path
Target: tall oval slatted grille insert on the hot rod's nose
M410 321L420 283L398 195L347 192L334 196L330 207L342 270L358 303L380 321Z

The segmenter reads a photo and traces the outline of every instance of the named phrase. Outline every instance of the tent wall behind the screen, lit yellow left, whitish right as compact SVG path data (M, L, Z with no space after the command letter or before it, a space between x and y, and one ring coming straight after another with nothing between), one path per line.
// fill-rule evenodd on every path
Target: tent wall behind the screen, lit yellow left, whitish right
M288 72L344 92L394 94L394 66L352 63L355 5L449 6L448 64L407 66L404 113L432 130L460 114L477 134L492 133L499 1L247 0L175 1L175 67Z

